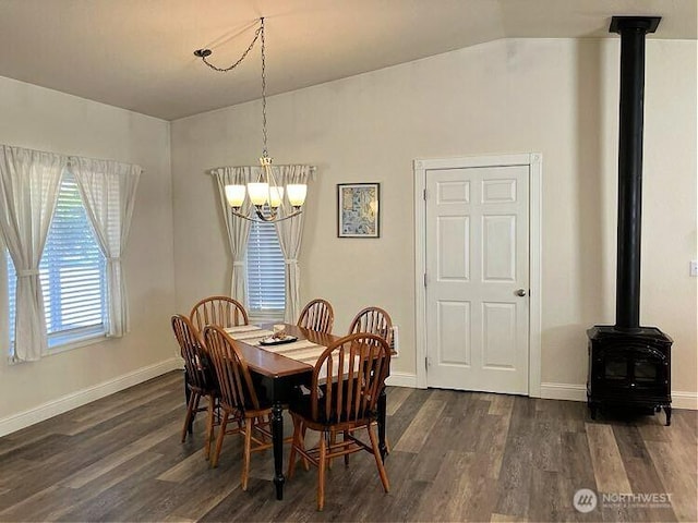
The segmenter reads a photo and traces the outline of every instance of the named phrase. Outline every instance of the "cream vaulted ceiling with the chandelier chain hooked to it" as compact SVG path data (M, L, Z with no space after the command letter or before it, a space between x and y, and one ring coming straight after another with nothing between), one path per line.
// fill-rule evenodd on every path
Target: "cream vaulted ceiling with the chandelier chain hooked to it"
M0 76L173 120L507 37L615 37L614 14L660 15L696 39L696 0L0 0Z

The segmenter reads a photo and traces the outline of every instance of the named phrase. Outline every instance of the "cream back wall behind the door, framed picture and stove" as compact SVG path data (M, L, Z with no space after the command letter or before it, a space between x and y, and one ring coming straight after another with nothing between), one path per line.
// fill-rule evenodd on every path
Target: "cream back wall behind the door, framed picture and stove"
M649 40L643 325L674 340L673 388L695 394L696 42ZM586 380L585 330L614 323L619 45L509 39L268 100L269 151L318 167L300 264L344 331L362 306L401 326L394 370L414 374L414 158L543 154L542 380ZM172 122L177 307L228 292L230 259L204 171L254 165L260 104ZM336 184L381 182L382 238L336 238Z

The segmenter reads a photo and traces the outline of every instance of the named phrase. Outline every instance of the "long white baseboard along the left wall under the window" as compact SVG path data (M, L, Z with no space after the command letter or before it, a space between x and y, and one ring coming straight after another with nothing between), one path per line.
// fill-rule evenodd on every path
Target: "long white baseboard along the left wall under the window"
M161 376L170 370L182 368L182 366L181 357L165 360L93 387L71 392L62 398L28 409L24 412L0 418L0 437L15 433L22 428L28 427L29 425L43 422L72 409L76 409L89 403L91 401L98 400L106 396L113 394L115 392L119 392L120 390L133 387L134 385L147 381L148 379Z

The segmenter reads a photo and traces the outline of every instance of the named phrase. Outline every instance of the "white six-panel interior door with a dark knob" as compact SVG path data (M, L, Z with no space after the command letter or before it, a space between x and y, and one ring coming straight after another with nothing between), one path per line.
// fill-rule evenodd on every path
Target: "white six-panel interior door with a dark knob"
M426 171L426 384L528 394L529 167Z

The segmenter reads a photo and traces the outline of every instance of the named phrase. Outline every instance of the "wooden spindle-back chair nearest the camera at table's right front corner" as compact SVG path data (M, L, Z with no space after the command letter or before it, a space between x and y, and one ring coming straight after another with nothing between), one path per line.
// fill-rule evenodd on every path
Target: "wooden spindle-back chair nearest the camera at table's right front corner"
M390 362L388 344L369 333L349 335L330 344L313 369L310 394L299 396L289 405L293 418L293 442L289 455L288 477L293 477L296 457L318 469L317 509L325 504L325 471L329 460L360 450L371 452L378 469L383 488L389 490L373 424L377 417L378 393L384 386ZM332 384L332 386L329 386ZM306 449L306 429L320 433L316 447ZM371 445L354 436L365 429ZM330 439L342 434L341 441Z

